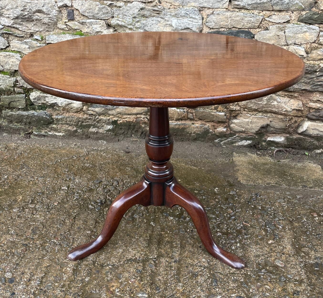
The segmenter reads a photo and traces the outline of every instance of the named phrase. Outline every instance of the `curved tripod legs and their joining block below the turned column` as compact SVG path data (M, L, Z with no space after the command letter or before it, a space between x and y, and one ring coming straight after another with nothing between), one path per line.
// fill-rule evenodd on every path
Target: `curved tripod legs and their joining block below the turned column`
M72 249L67 258L76 261L101 249L110 240L118 228L121 218L130 207L137 204L162 206L156 205L156 200L151 199L152 196L155 198L164 197L164 204L162 205L167 207L172 208L179 205L186 209L193 220L204 247L212 256L235 269L245 267L245 262L242 259L222 249L215 243L201 202L181 186L175 177L165 183L153 183L143 177L139 183L121 193L111 204L100 235L93 241Z

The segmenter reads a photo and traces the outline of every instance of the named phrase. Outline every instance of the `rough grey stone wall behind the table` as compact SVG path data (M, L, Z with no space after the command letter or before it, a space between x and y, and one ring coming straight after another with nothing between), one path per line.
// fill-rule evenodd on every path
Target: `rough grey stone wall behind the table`
M143 137L148 109L107 107L41 93L17 73L23 55L86 35L193 31L272 43L304 59L292 88L236 104L170 109L177 139L261 147L321 148L323 0L1 0L1 130L38 135Z

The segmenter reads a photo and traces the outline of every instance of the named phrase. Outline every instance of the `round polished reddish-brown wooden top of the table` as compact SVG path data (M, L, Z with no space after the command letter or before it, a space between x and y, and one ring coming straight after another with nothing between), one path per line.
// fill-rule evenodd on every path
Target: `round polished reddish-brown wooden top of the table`
M21 77L49 94L90 103L197 107L245 101L297 83L304 62L256 40L207 33L132 32L36 49Z

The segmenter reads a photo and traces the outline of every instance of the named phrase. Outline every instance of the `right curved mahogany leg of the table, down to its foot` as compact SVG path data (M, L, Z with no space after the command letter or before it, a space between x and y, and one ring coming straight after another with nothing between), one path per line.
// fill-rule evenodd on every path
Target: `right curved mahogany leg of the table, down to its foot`
M179 205L186 209L193 220L204 247L212 256L235 269L245 268L245 261L215 243L201 202L181 186L175 178L166 183L165 205L170 208L174 205Z

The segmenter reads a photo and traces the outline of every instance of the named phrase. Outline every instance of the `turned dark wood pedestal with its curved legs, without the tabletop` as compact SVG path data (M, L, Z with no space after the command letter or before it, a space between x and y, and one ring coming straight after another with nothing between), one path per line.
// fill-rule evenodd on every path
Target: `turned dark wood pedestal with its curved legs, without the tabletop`
M150 162L142 180L118 196L109 209L100 235L68 253L69 260L79 260L101 249L116 231L122 216L132 206L182 206L191 216L206 250L223 263L243 269L245 261L219 247L211 234L209 221L201 202L181 186L174 177L169 162L173 140L169 132L168 108L151 108L146 152Z

